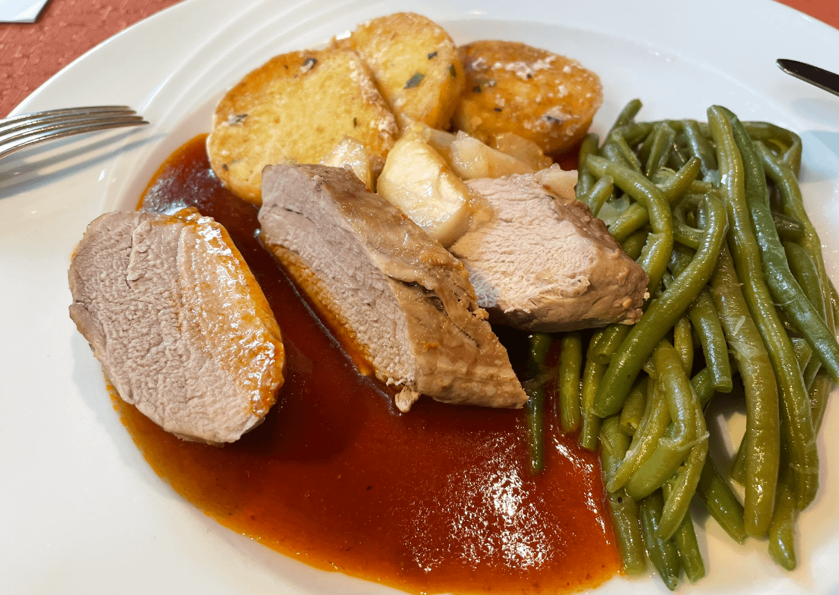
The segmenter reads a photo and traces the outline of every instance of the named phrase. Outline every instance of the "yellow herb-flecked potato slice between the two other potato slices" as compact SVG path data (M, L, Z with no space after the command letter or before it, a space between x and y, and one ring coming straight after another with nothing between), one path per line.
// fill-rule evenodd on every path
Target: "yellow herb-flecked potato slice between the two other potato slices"
M449 128L465 78L446 29L420 14L393 13L336 44L362 57L401 128L412 121Z

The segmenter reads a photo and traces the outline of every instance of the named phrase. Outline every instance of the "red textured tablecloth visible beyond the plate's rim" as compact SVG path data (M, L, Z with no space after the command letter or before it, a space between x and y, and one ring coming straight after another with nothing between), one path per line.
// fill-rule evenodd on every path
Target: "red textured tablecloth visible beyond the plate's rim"
M0 24L0 117L61 68L180 0L51 0L39 21ZM780 0L839 29L835 0Z

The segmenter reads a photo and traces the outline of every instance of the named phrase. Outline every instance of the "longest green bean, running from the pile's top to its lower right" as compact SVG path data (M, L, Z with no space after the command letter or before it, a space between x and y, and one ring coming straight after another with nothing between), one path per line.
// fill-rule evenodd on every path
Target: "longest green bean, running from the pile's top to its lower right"
M735 144L731 124L722 108L708 109L711 133L717 145L717 161L723 195L732 222L729 248L735 269L743 281L743 294L763 343L768 349L781 394L784 439L791 447L791 464L798 470L796 492L800 504L808 503L818 487L818 451L807 404L804 378L795 364L792 342L774 309L772 296L760 270L760 253L745 200L743 161ZM742 271L742 274L741 274ZM751 440L751 438L750 438Z

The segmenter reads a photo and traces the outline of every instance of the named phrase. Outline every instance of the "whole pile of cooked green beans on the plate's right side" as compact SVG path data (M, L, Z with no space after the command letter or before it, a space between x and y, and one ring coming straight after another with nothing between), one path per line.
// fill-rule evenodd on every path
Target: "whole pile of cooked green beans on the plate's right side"
M624 572L652 561L670 589L682 570L691 582L704 576L694 495L732 539L766 540L791 569L795 517L816 495L816 436L839 382L839 300L796 181L801 141L724 107L710 107L706 123L638 123L640 108L629 102L602 144L591 134L581 144L576 193L646 271L644 316L530 337L531 468L544 464L542 388L555 382L556 426L600 449ZM551 341L559 363L546 370ZM726 393L745 404L746 431L721 471L706 407Z

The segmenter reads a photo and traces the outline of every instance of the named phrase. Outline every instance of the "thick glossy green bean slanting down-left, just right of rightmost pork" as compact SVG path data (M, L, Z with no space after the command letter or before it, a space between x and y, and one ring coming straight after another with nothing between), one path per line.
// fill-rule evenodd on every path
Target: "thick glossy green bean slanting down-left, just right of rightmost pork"
M706 196L703 206L708 212L707 227L696 256L675 283L649 305L644 316L629 330L597 390L594 402L597 415L611 415L621 408L654 347L690 302L696 300L696 295L710 279L725 237L727 219L725 207L713 196Z

